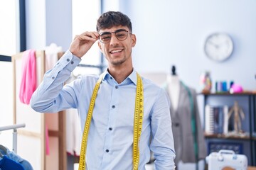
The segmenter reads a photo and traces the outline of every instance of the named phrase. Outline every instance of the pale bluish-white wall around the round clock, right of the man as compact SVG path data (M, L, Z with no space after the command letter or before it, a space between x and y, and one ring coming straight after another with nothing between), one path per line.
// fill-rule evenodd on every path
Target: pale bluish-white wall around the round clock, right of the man
M179 77L195 89L204 70L210 71L213 83L233 80L244 89L256 89L256 1L120 1L137 35L133 60L139 72L171 73L175 64ZM234 52L225 62L213 62L203 52L213 32L233 38Z

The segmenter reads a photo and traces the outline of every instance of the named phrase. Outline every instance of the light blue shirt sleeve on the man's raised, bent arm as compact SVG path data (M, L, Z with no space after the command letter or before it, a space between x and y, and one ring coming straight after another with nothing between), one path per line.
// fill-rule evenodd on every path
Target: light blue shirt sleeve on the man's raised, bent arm
M55 113L67 108L75 108L74 94L63 89L73 69L80 63L80 58L69 50L58 60L53 69L48 70L43 81L31 97L31 108L37 112Z

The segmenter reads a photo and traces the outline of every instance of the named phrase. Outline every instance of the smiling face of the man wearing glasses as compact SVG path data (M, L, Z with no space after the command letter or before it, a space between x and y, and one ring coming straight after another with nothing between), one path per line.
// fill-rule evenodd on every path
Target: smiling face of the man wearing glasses
M120 31L121 34L119 35ZM132 64L132 47L136 44L136 36L127 31L129 31L127 26L114 26L99 31L100 38L103 38L102 40L104 38L110 39L109 42L105 43L99 41L98 45L112 66ZM127 33L125 40L122 40L122 36L124 36L122 33ZM107 36L104 37L105 35Z

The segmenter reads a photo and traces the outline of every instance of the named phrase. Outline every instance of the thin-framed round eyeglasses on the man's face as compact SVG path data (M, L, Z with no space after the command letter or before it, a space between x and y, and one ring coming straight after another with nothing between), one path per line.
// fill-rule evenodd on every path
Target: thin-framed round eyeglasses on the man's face
M100 33L100 42L102 43L107 43L110 42L111 40L111 34L114 33L114 35L116 36L117 40L119 41L123 41L126 40L128 37L128 30L124 30L124 29L119 29L119 30L115 30L114 32L103 32ZM132 34L132 33L130 33Z

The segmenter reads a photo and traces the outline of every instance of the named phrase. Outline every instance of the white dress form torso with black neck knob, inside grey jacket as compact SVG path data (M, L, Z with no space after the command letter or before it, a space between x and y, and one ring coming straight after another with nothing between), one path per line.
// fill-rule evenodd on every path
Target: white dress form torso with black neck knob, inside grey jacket
M175 66L171 67L171 75L167 76L167 83L169 96L171 99L171 106L174 109L174 111L178 108L178 99L179 99L179 93L180 93L180 81L178 79L178 76L176 74L176 68Z

